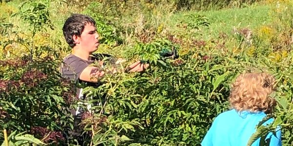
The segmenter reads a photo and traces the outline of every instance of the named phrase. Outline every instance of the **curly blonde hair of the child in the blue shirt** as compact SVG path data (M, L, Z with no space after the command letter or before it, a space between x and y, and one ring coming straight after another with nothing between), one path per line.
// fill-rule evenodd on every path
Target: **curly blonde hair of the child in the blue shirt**
M275 78L268 73L242 73L230 91L231 108L237 111L272 113L276 101L270 96L275 89Z

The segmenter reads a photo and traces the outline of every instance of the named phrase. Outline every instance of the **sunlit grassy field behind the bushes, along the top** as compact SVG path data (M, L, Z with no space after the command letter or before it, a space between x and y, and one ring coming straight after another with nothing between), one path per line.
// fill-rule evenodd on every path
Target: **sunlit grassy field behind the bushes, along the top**
M5 18L6 21L9 21L18 26L20 31L26 32L28 31L27 28L29 24L25 23L19 17L10 17L12 13L18 11L18 6L20 3L21 1L19 0L13 0L8 3L1 3L0 7L3 10L3 13L1 13L0 16L1 18ZM290 4L288 6L290 6ZM162 10L164 9L162 6L152 6L151 8L153 10L150 12L148 11L147 14L143 14L144 11L141 10L137 12L137 15L129 15L134 13L133 11L136 11L135 9L138 8L130 11L124 10L125 12L120 16L120 20L113 23L119 23L119 21L123 22L120 23L120 26L125 30L127 29L127 26L138 27L139 25L143 25L144 28L150 29L150 31L155 31L160 25L163 25L164 28L170 30L170 32L180 32L182 31L182 28L177 27L180 20L187 19L190 15L200 14L208 18L210 25L209 27L200 27L199 30L196 31L197 33L200 33L200 35L195 36L198 37L198 39L209 40L210 38L218 37L221 33L227 34L228 36L233 36L235 29L239 30L248 28L251 29L253 33L255 33L258 32L262 27L266 26L271 28L278 25L277 27L281 27L280 17L290 16L288 13L290 12L289 10L287 10L288 12L282 12L283 10L287 9L288 6L282 3L280 6L277 6L276 2L270 2L268 0L267 2L259 2L253 5L247 5L243 8L235 7L210 11L191 10L187 12L176 13L174 13L172 10L165 12ZM51 20L55 26L55 29L47 32L50 34L48 39L61 41L65 47L66 44L62 35L64 20L72 13L84 13L84 11L78 7L70 6L66 3L62 3L62 5L60 5L57 2L52 2L50 7L52 7ZM168 10L171 8L167 6L166 9ZM143 17L142 20L144 21L144 24L138 24L141 17ZM184 30L182 32L184 32Z

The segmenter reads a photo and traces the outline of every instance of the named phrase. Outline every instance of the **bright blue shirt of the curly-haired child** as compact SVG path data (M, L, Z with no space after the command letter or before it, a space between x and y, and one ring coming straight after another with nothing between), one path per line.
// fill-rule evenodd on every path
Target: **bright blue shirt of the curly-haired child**
M208 133L202 141L202 146L247 146L251 135L256 131L256 126L263 118L264 112L251 113L248 111L237 112L229 110L219 114L212 123ZM269 119L263 125L273 122ZM282 146L281 130L276 131L275 137L272 132L270 146ZM260 138L251 146L259 146Z

